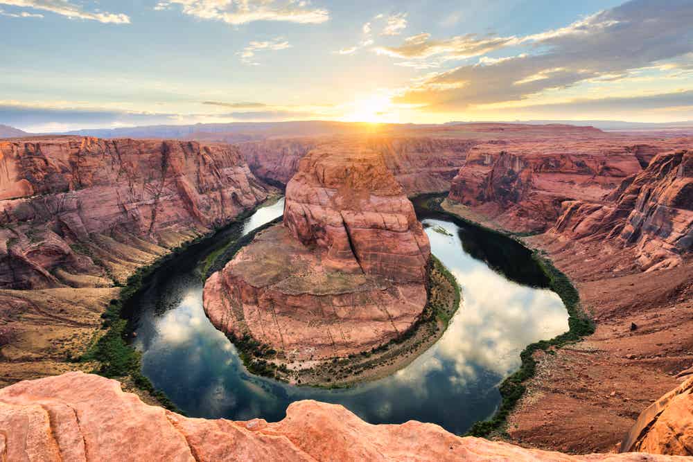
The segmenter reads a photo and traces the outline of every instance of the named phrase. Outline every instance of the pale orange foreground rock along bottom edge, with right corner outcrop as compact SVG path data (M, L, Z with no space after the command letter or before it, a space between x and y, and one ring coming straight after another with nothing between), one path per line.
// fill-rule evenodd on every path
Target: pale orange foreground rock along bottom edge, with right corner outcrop
M664 403L644 434L650 449L674 447L668 419L681 416L688 419L687 439L676 441L692 448L692 382L689 393ZM688 460L642 453L568 456L460 438L427 423L370 425L340 405L315 401L293 403L277 423L186 418L123 393L115 380L78 372L0 390L0 454L6 461L41 462Z

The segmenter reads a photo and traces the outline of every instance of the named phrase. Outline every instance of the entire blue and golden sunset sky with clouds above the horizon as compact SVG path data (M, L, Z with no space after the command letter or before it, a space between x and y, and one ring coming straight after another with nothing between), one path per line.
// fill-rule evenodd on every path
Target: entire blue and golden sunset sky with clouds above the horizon
M0 124L693 120L693 0L0 0Z

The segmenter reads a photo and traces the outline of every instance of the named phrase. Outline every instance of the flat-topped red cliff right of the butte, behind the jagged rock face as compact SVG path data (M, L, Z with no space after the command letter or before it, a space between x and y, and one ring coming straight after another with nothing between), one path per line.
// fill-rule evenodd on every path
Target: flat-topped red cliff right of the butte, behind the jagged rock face
M545 231L569 200L602 201L655 154L686 140L499 139L474 146L450 187L449 199L470 207L495 227ZM644 167L643 167L644 166Z

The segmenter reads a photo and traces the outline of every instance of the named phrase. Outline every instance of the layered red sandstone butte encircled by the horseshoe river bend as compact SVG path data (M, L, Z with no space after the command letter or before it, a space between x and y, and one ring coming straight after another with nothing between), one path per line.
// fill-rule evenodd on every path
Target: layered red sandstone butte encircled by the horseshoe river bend
M204 286L212 323L295 359L370 350L426 305L428 237L365 145L311 150L286 188L283 224L260 233Z

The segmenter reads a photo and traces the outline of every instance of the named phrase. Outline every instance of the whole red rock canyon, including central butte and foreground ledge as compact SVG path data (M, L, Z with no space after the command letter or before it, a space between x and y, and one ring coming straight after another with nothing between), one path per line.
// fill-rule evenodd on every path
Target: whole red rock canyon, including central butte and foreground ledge
M542 450L691 452L691 382L681 384L693 365L690 139L464 124L241 141L0 140L0 385L91 370L70 359L103 332L118 285L254 208L273 186L286 187L283 223L258 233L204 290L209 318L235 337L310 364L401 335L426 304L430 256L407 195L448 190L446 211L511 233L567 274L596 332L535 353L536 375L508 418L506 443L419 423L368 425L315 402L292 405L280 423L186 419L116 382L71 373L0 390L0 429L35 431L40 459L83 454L86 445L118 459L122 446L109 447L112 436L98 429L128 421L130 447L151 456L146 435L167 435L161 441L181 460L281 451L297 460L627 461L665 458ZM101 409L96 396L123 404L89 414L89 440L69 419ZM117 408L132 414L100 420ZM140 414L147 417L132 417ZM35 425L18 423L26 418ZM330 443L335 434L351 439ZM403 443L412 435L430 444ZM0 437L0 453L24 450L10 440Z

